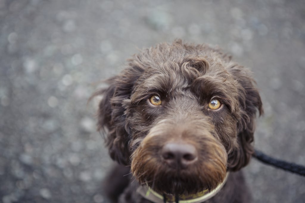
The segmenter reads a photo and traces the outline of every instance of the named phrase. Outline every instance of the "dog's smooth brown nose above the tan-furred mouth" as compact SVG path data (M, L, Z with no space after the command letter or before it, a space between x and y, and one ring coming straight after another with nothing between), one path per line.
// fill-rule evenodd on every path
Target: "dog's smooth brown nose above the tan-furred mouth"
M198 159L197 150L191 144L167 143L163 146L161 156L172 168L185 169Z

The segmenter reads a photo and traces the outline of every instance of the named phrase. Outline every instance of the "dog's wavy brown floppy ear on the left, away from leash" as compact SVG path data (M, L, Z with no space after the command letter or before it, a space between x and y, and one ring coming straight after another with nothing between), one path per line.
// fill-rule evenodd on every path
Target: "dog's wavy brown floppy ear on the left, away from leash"
M131 133L126 119L127 104L134 82L142 72L141 68L130 66L119 75L107 80L109 87L97 91L94 96L101 95L98 110L98 130L106 133L105 142L110 157L120 164L128 165L130 160L129 140ZM124 102L125 101L125 102Z

